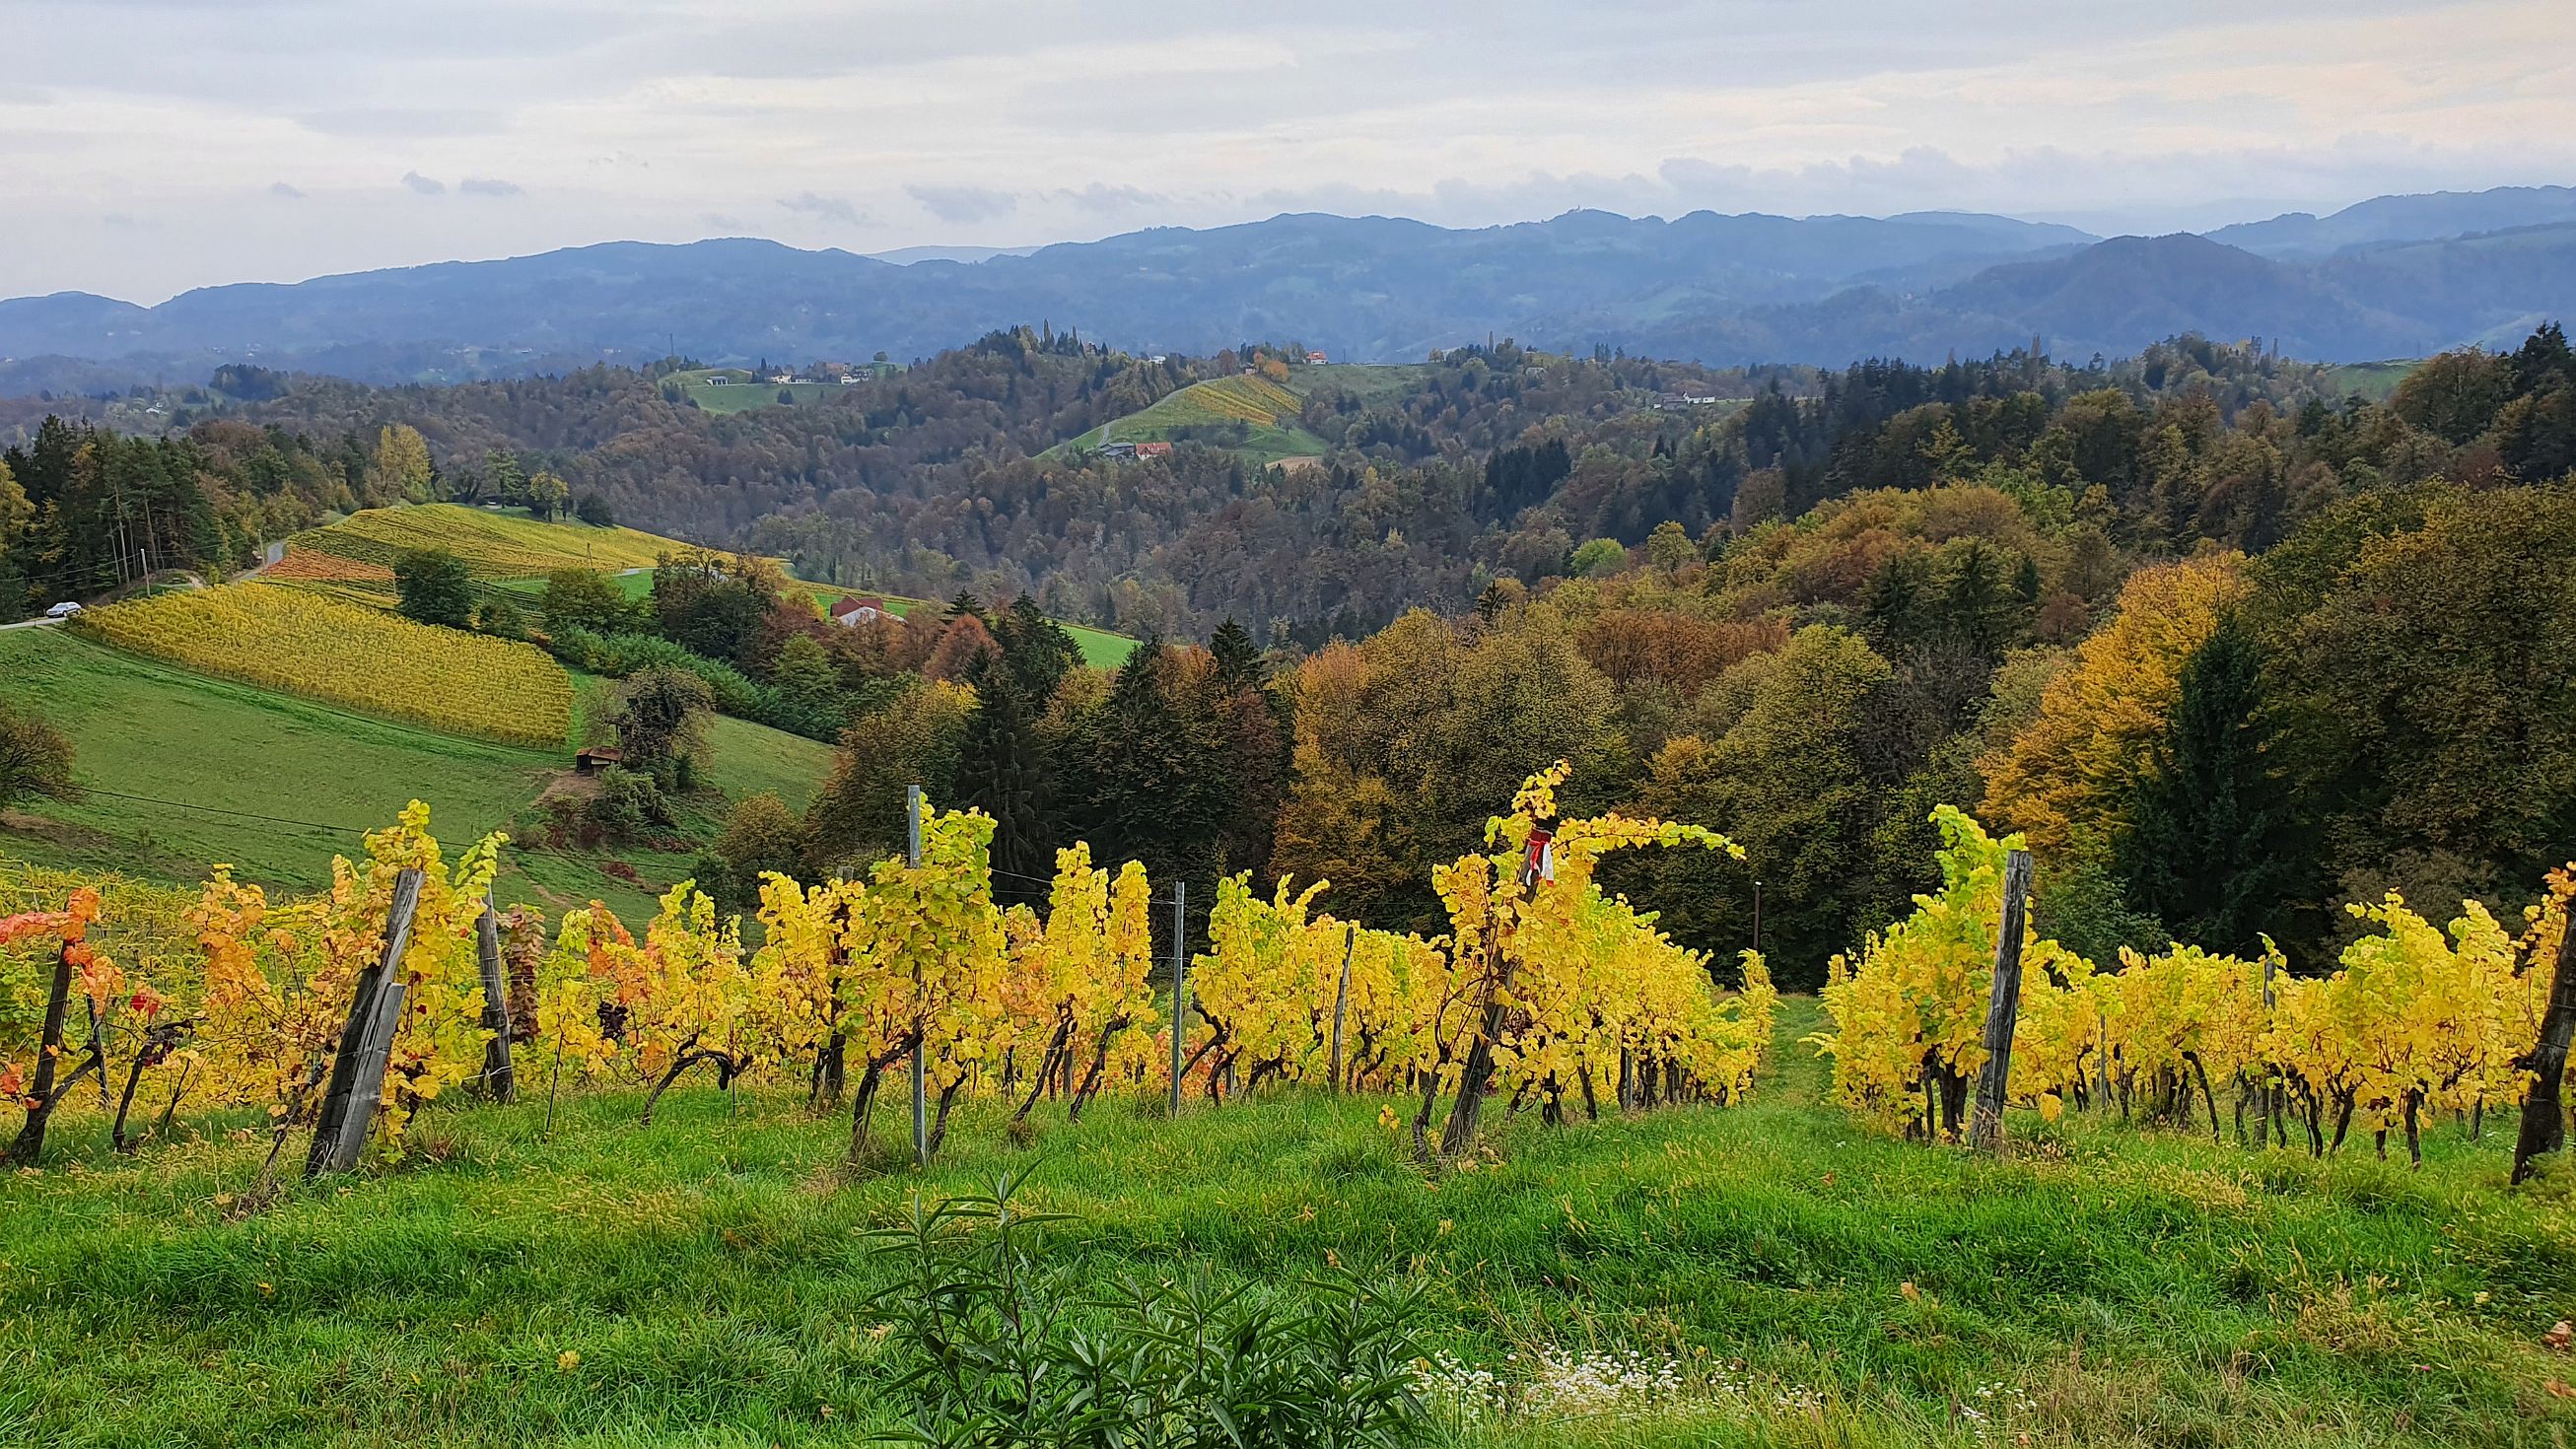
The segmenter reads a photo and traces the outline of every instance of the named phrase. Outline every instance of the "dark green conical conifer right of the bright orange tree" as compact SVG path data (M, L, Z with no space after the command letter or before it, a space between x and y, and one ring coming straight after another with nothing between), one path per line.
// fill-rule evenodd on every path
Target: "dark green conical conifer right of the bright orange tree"
M2246 950L2293 865L2264 759L2262 646L2236 615L2182 664L2182 692L2130 798L2112 862L2130 906L2205 950Z

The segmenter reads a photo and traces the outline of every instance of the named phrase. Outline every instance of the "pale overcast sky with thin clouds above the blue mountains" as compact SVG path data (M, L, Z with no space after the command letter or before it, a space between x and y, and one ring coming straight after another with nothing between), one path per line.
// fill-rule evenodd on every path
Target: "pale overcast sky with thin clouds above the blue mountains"
M2208 229L2576 183L2571 0L0 0L0 296L1280 211Z

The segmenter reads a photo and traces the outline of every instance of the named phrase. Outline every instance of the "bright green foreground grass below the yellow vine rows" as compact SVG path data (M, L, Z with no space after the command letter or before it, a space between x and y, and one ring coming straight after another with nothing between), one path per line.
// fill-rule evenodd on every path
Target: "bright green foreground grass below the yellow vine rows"
M242 1212L260 1145L222 1122L0 1179L0 1436L126 1444L855 1444L894 1428L863 1233L914 1192L1036 1166L1059 1253L1252 1279L1293 1310L1327 1264L1425 1295L1422 1349L1504 1380L1636 1351L1628 1413L1533 1398L1437 1444L2566 1444L2545 1346L2576 1310L2566 1174L2506 1192L2509 1125L2427 1168L2043 1127L1981 1161L1816 1104L1785 1001L1739 1109L1504 1122L1425 1179L1378 1099L1283 1094L1185 1125L1048 1104L1028 1145L966 1112L927 1176L845 1179L845 1122L683 1086L438 1109L399 1166ZM526 1081L526 1078L523 1078ZM881 1140L899 1135L886 1107ZM1546 1408L1553 1403L1553 1410Z

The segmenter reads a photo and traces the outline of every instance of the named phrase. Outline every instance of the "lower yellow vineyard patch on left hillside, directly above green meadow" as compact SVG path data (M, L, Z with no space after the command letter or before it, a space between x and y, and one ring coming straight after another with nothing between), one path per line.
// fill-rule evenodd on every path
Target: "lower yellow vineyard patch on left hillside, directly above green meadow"
M80 628L206 674L551 749L572 679L526 643L430 628L301 587L232 584L90 610Z

